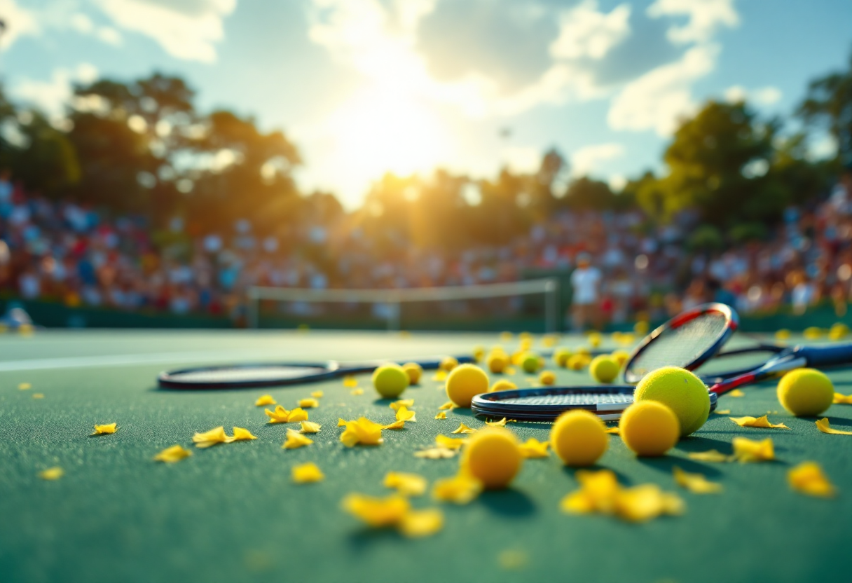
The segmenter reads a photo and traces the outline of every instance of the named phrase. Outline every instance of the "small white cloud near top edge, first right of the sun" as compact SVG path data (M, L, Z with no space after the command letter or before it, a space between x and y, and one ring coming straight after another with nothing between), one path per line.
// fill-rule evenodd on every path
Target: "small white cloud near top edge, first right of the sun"
M550 55L559 59L601 59L630 35L630 6L620 4L609 14L597 11L596 0L584 0L562 14L559 37Z

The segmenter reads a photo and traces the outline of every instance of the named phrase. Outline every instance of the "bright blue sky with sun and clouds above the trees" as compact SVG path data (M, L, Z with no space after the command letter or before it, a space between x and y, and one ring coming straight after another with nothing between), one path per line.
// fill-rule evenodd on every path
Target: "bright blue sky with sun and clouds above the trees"
M708 99L789 116L852 53L849 0L0 0L0 80L60 120L72 84L158 71L300 148L360 205L386 171L534 170L619 188ZM815 155L831 153L819 137Z

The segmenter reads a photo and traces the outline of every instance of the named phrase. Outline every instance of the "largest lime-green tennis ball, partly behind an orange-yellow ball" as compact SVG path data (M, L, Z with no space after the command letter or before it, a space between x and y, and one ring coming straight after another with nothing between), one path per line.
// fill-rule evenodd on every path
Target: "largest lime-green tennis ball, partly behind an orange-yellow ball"
M635 401L659 401L667 405L688 436L705 424L710 415L710 394L692 372L681 367L662 367L649 372L636 385Z

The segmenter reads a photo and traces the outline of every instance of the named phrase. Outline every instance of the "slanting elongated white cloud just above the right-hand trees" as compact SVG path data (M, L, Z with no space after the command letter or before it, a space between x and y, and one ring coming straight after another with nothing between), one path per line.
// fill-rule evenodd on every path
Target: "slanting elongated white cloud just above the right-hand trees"
M607 123L613 130L655 130L670 136L678 120L695 112L691 85L716 66L718 48L699 45L679 61L659 66L632 81L613 99Z

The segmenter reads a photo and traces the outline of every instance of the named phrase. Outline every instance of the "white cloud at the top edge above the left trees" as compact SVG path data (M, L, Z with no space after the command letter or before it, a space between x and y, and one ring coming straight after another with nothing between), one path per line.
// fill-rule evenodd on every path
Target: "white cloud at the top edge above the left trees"
M187 61L216 61L216 43L224 38L222 20L237 0L95 0L112 22L126 31L153 38L167 53ZM101 29L99 38L120 42L114 29Z

